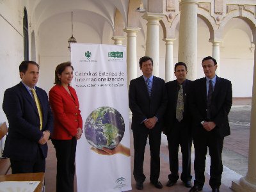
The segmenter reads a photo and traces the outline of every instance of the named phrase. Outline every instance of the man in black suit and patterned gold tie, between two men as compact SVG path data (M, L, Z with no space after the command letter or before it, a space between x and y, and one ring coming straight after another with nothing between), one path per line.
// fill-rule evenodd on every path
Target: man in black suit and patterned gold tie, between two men
M189 88L192 81L186 79L187 66L183 62L175 64L177 80L166 83L168 105L164 115L164 133L168 140L171 174L166 186L173 186L179 179L179 145L182 152L182 173L180 179L191 188L191 116L188 108Z

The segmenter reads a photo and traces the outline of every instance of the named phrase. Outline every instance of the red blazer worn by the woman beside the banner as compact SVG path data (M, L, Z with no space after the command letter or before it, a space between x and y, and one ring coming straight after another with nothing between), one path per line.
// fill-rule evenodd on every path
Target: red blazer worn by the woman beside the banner
M76 91L72 86L68 86L68 89L72 96L58 84L49 92L49 101L54 115L51 138L55 140L71 140L76 136L78 127L83 129Z

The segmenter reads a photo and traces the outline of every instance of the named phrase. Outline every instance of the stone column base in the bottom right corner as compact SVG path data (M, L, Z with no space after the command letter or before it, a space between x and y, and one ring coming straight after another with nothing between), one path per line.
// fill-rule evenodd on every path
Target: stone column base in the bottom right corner
M232 181L231 189L236 192L252 192L256 191L256 184L248 182L245 177L241 177L240 180Z

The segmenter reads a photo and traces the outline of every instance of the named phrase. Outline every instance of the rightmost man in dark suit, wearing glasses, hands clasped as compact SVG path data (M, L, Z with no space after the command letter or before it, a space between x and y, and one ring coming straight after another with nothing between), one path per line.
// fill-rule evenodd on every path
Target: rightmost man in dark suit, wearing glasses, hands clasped
M210 186L220 191L223 165L223 140L230 134L228 113L232 106L232 85L227 79L216 76L217 62L211 56L202 60L205 77L193 82L191 113L193 115L193 141L195 147L195 182L190 192L204 186L205 156L207 147L211 156Z

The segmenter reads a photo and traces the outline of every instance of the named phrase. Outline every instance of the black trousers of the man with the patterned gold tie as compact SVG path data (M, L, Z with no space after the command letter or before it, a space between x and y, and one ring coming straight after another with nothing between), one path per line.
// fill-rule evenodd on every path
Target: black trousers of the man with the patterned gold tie
M168 179L177 181L179 179L179 146L182 152L182 173L180 179L184 182L191 180L191 145L192 136L186 124L182 122L175 122L172 131L167 135L169 162L171 174Z

